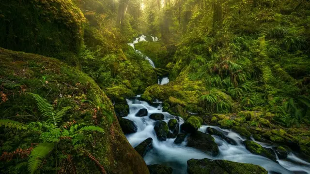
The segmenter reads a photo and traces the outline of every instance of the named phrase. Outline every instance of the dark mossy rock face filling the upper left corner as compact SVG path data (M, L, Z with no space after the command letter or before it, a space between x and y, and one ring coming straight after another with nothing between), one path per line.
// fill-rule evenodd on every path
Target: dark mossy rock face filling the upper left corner
M72 0L1 1L0 47L77 64L84 21Z

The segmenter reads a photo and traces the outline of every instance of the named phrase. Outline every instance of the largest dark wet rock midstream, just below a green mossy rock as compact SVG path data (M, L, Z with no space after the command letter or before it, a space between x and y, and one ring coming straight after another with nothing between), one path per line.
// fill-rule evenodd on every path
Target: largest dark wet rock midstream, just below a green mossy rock
M218 147L214 138L201 131L196 131L187 137L187 146L201 150L204 153L212 156L218 155Z

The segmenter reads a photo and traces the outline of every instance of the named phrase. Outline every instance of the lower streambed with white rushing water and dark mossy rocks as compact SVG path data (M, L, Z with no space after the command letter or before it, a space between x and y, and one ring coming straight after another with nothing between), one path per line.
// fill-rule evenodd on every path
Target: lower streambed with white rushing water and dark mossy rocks
M266 144L237 128L186 122L140 96L127 99L129 114L119 117L129 143L148 164L151 174L309 174L310 163L288 147ZM237 132L241 132L240 135Z

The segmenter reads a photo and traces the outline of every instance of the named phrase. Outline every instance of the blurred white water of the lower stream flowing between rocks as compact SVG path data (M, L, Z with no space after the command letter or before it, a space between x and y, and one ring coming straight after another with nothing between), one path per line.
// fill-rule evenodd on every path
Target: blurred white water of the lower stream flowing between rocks
M129 143L133 147L139 145L149 137L153 138L153 149L144 157L146 164L164 164L172 167L173 174L187 174L187 160L209 158L260 165L265 168L269 174L310 174L310 163L297 158L293 153L289 154L287 159L278 160L279 163L259 155L254 155L241 144L241 140L245 140L245 138L231 130L221 129L216 126L209 127L221 131L227 137L238 142L238 145L231 145L224 139L212 135L219 147L219 155L217 157L211 157L200 150L187 147L186 142L183 142L181 145L175 145L173 143L175 138L170 138L166 141L158 141L154 131L155 120L150 119L149 116L153 113L162 113L165 115L164 121L167 123L171 118L175 118L175 116L170 115L168 112L163 112L160 102L155 103L157 106L151 106L147 102L138 100L139 97L140 96L137 96L136 98L127 100L130 111L129 115L124 118L132 120L138 128L136 133L126 135ZM148 110L148 115L143 117L135 116L142 108ZM180 119L179 124L181 125L182 123L183 121ZM206 132L207 127L207 125L202 126L199 131ZM273 146L260 142L257 143L264 147Z

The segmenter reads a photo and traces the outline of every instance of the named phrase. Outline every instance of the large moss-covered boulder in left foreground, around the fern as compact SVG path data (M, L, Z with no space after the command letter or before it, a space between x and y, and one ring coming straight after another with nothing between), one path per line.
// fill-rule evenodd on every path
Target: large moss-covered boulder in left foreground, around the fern
M93 140L85 148L108 173L148 173L144 160L127 142L109 98L89 76L76 68L54 58L0 48L0 88L2 97L5 97L0 103L1 119L10 118L25 124L44 121L46 118L40 115L36 102L26 92L39 94L55 107L71 106L72 109L61 124L75 120L104 129L105 133L94 134ZM5 130L7 129L1 129L1 154L13 152L17 147L27 149L32 143L40 143L39 132L18 131L4 134ZM59 149L47 156L42 170L46 173L55 172L54 155L66 158L66 154L70 153L78 173L100 173L88 157ZM0 171L3 174L21 173L27 170L26 161L27 158L14 158L1 163Z

